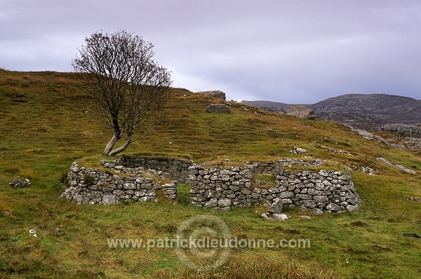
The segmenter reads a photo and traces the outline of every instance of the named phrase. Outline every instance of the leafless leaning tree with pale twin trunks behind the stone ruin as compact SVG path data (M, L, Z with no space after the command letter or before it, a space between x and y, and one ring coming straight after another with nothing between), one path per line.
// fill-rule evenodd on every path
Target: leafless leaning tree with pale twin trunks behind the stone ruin
M95 32L85 41L72 66L86 83L100 120L114 131L104 154L115 155L148 135L161 121L171 75L152 60L154 46L141 36L124 30ZM122 137L126 141L113 149Z

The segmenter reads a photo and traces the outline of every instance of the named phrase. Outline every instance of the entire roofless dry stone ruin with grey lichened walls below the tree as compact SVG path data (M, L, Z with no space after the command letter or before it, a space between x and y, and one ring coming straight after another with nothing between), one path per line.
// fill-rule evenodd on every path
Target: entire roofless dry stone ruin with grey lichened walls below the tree
M280 200L284 206L323 214L354 211L361 203L352 177L345 172L285 169L319 166L319 160L286 158L248 162L241 167L206 167L174 158L121 157L101 163L112 172L79 168L74 162L67 175L68 188L61 196L78 203L113 204L123 200L156 201L160 196L157 191L162 191L166 198L176 200L177 183L181 181L190 185L190 202L206 208L228 210ZM259 184L255 179L258 174L271 174L274 182Z

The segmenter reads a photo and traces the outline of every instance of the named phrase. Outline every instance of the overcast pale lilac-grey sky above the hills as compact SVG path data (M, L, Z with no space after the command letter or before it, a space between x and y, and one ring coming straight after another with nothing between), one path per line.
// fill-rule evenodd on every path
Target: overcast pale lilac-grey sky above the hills
M420 0L0 0L0 68L71 72L100 29L142 35L174 87L228 100L421 99Z

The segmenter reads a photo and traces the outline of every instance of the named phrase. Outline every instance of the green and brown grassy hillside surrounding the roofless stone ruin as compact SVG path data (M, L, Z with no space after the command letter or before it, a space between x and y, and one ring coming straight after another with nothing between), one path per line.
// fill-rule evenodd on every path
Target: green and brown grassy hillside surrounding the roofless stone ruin
M208 104L220 101L173 88L166 127L126 155L228 165L306 155L321 158L325 169L368 166L376 176L350 170L360 210L321 216L288 210L291 219L276 222L260 217L263 207L225 212L189 205L187 185L179 187L177 204L76 205L58 198L63 172L74 160L98 165L112 136L91 114L82 88L70 73L0 70L0 278L420 278L421 242L403 237L421 233L419 202L403 198L421 196L419 150L366 140L336 123L257 115L241 104L229 115L207 114ZM291 155L293 147L307 153ZM382 165L379 156L417 175ZM31 186L8 186L17 175ZM304 238L312 246L237 249L218 270L199 274L173 249L107 247L108 238L174 236L182 222L203 214L222 219L239 238Z

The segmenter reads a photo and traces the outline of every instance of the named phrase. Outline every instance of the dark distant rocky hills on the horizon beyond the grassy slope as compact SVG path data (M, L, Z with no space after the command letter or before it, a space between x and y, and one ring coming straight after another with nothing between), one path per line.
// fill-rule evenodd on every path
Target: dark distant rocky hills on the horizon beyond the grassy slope
M272 112L288 111L292 104L270 101L243 101ZM421 122L421 100L387 94L347 94L316 104L303 104L315 111L316 118L352 125L366 130L380 130L393 123ZM276 111L279 108L279 111Z

